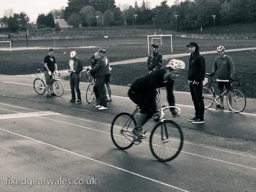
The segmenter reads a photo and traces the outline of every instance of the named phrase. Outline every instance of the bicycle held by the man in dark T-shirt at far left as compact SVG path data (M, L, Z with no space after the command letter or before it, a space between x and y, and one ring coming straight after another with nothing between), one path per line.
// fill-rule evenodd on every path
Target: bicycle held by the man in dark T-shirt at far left
M39 73L41 73L41 76L40 76L40 78L36 78L34 80L33 87L37 94L42 95L46 92L45 74L44 74L43 70L41 70L41 69L37 69L37 71ZM58 77L59 76L60 76L60 74L58 73ZM59 79L55 78L54 73L52 73L52 79L51 79L49 85L52 86L53 93L56 96L60 97L63 95L63 93L64 93L63 84Z

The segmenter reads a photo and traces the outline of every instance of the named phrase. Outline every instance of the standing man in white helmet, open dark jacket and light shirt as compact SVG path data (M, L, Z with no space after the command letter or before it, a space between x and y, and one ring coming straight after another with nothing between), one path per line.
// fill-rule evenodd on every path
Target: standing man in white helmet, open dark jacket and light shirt
M69 102L79 104L81 103L81 92L79 89L79 82L80 82L80 72L82 71L82 65L77 57L75 51L70 52L70 61L68 65L68 72L70 73L70 89L72 98ZM76 95L77 94L77 101Z

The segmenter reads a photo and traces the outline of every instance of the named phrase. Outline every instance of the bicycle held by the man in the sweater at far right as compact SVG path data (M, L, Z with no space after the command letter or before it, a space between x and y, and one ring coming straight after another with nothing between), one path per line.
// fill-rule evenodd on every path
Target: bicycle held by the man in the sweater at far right
M224 97L224 95L227 93L226 101L228 108L233 111L234 113L240 113L245 109L246 106L246 98L244 93L235 87L240 86L240 81L234 79L233 81L230 81L231 87L225 90L220 96L216 96L212 77L210 73L205 73L207 76L210 77L210 82L208 84L208 87L203 87L203 100L204 100L204 109L210 108L212 104L220 104L218 102L219 98Z

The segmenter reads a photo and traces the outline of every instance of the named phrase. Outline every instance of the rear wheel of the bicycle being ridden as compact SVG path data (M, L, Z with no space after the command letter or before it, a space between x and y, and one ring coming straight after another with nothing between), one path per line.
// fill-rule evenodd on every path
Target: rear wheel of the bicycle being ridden
M132 130L136 126L136 121L130 113L118 114L111 124L111 139L120 150L127 150L133 146Z

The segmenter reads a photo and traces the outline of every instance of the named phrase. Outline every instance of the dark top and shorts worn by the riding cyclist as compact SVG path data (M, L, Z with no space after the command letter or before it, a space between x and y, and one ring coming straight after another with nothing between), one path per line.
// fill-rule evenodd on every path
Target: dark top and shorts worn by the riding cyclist
M175 97L173 93L174 80L169 79L168 81L164 82L163 76L165 72L165 69L161 69L155 71L154 73L148 73L147 75L134 81L130 88L130 92L144 96L145 100L148 101L148 109L151 109L153 113L157 112L155 100L156 88L166 87L168 103L172 106L175 105Z

